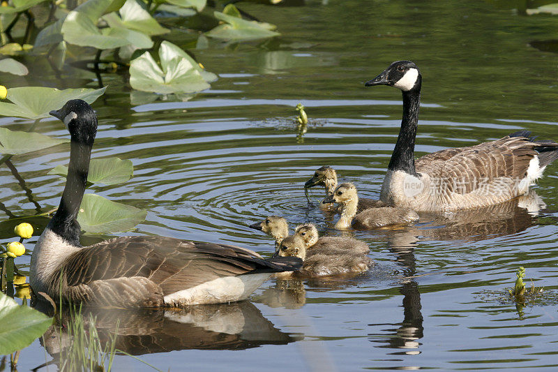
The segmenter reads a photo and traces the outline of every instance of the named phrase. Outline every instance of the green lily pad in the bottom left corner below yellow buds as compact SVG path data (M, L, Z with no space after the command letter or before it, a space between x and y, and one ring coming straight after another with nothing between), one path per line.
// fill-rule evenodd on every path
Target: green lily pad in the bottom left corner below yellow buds
M52 318L29 306L20 306L0 292L0 355L27 348L43 336Z

